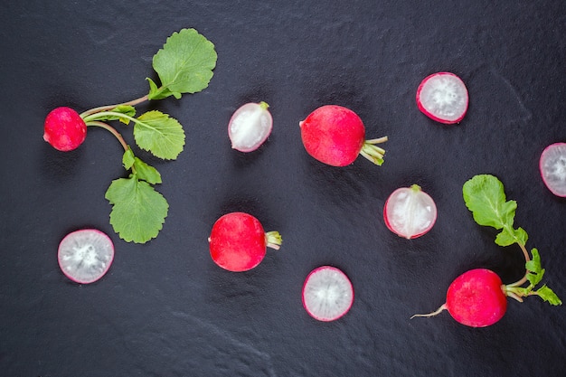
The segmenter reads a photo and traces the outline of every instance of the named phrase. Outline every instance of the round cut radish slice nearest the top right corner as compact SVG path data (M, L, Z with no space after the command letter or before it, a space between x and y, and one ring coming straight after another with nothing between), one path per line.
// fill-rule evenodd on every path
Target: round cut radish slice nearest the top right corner
M420 111L444 124L462 120L466 115L467 102L466 85L454 73L433 73L420 82L417 90Z

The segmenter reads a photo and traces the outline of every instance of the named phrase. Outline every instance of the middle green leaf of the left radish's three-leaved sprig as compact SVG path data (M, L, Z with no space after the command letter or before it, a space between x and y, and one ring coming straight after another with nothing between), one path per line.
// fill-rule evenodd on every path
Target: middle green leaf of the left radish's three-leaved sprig
M175 118L152 110L137 118L134 126L137 146L165 160L174 160L183 151L184 129Z

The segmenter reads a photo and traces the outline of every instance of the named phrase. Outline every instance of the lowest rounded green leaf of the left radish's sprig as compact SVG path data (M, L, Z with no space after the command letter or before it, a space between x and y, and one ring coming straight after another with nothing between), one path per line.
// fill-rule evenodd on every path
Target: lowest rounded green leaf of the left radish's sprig
M157 237L169 204L161 193L135 175L112 181L105 194L113 205L110 224L121 239L145 243Z

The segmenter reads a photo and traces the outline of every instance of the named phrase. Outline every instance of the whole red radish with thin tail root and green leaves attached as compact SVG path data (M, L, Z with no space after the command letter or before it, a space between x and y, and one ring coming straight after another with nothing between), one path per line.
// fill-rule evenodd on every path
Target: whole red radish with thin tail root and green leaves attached
M415 316L436 316L448 310L460 324L484 327L495 324L505 315L506 297L523 302L524 297L538 296L550 305L561 305L561 299L550 287L538 287L545 271L541 266L541 256L535 248L529 253L526 249L526 231L514 228L517 203L506 200L501 181L494 175L478 174L464 184L462 193L474 220L479 225L500 231L495 237L497 245L505 247L516 243L523 251L524 277L504 285L501 278L489 269L471 269L450 284L446 302L438 310Z

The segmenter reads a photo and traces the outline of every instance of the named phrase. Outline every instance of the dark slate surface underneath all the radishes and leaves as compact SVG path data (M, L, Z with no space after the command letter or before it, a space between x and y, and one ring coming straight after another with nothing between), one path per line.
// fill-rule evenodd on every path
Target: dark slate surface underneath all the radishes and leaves
M436 309L467 269L524 274L516 246L473 221L461 187L495 174L518 203L544 281L566 298L566 202L542 184L538 159L566 140L566 3L469 1L5 1L0 5L0 374L2 376L559 376L566 307L509 301L473 329ZM92 129L71 153L42 140L58 106L79 111L146 94L153 55L193 27L216 45L208 89L158 101L184 125L174 162L144 153L170 203L144 245L118 238L104 193L126 174L121 147ZM417 86L452 71L467 117L442 126L415 105ZM274 130L248 155L227 123L265 100ZM298 122L323 104L354 109L367 137L390 137L386 161L334 168L307 156ZM138 108L140 112L149 106ZM117 126L132 142L130 130ZM437 203L417 240L388 231L383 203L420 184ZM230 273L207 237L224 212L250 212L284 245L258 268ZM61 273L57 246L94 227L116 245L91 285ZM351 278L342 319L307 316L307 273L331 264Z

